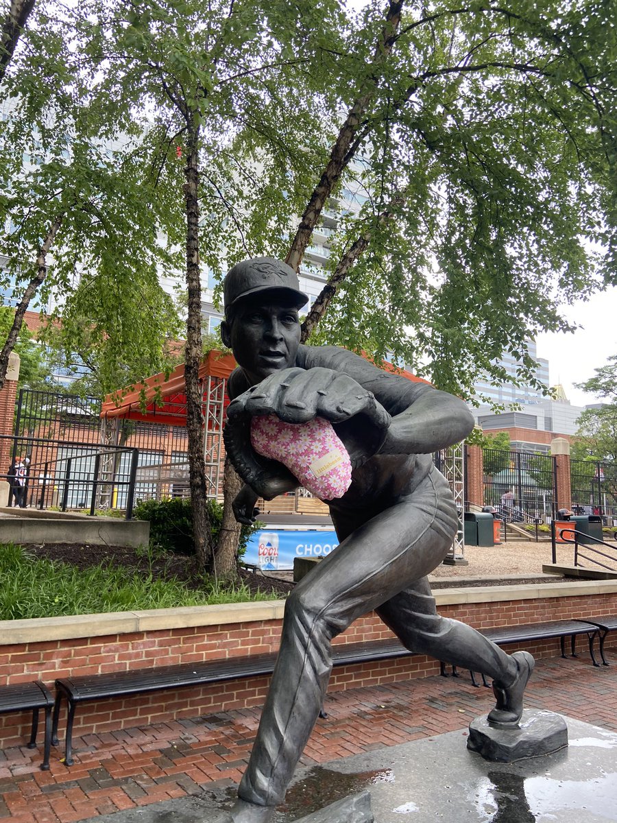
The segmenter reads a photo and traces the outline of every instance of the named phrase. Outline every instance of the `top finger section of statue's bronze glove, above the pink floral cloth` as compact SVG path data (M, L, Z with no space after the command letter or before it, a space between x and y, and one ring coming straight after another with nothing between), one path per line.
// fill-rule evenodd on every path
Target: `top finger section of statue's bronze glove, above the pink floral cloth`
M348 374L320 366L276 371L227 409L230 418L274 414L287 423L305 423L317 416L341 423L360 413L369 416L379 429L390 424L390 415L373 393Z

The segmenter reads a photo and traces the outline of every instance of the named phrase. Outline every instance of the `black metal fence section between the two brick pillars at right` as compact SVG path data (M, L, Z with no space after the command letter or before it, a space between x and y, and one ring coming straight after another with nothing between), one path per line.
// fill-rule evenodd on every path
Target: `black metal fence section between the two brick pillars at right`
M549 523L556 495L554 458L535 452L484 449L485 505L511 523Z

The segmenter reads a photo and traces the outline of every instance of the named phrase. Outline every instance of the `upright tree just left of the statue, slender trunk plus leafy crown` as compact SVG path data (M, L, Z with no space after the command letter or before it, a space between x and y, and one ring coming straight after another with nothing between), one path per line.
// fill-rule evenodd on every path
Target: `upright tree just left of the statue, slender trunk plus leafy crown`
M146 144L158 184L176 198L183 193L183 213L176 210L160 228L174 243L184 224L190 488L197 555L206 567L212 546L198 381L201 263L220 272L223 246L228 264L251 253L249 245L255 252L265 242L281 249L280 227L300 211L295 178L306 188L321 149L318 142L310 147L309 135L318 133L323 115L332 116L333 101L315 92L323 95L336 62L323 44L336 49L341 12L328 0L207 9L152 0L138 7L85 4L81 11L89 53L106 67L108 94L155 113ZM286 191L281 178L290 178Z

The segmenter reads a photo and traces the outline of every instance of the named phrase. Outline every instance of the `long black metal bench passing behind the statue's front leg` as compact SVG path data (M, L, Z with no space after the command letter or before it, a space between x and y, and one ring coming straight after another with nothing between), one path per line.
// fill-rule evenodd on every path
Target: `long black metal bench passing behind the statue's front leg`
M398 640L369 643L335 644L333 665L345 666L367 660L383 660L411 655ZM73 765L72 729L77 704L112 697L139 695L185 686L206 686L210 683L238 680L244 677L269 675L274 669L275 653L255 654L251 657L206 660L200 663L180 663L174 666L152 666L128 672L62 677L56 681L56 700L53 707L51 740L58 746L58 720L64 699L67 700L67 732L64 763Z

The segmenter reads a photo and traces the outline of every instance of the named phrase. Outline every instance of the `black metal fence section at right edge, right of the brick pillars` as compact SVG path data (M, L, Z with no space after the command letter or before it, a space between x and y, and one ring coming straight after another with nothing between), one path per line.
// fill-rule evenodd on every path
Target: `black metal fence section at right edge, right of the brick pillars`
M617 526L617 463L571 460L570 486L575 514L598 514Z

